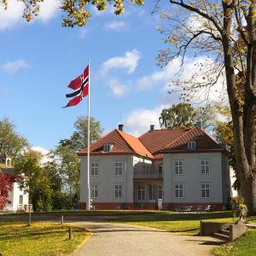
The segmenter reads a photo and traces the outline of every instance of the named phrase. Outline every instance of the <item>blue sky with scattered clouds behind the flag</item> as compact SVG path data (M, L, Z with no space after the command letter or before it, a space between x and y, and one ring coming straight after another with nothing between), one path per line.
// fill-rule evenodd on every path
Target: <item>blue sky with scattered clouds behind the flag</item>
M47 0L30 24L22 20L20 5L10 3L8 13L0 10L0 119L12 119L33 146L54 148L70 137L75 119L87 114L86 99L78 107L61 107L68 102L67 84L89 58L91 115L105 132L123 123L125 131L142 134L158 125L162 108L178 102L166 93L178 61L157 67L155 57L165 44L150 6L130 7L120 16L111 8L102 14L91 9L87 26L63 28L55 1Z

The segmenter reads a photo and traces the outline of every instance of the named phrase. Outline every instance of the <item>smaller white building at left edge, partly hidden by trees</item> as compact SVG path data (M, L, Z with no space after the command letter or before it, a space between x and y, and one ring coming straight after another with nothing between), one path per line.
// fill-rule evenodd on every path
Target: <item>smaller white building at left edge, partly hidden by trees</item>
M14 167L11 165L11 159L6 154L0 156L0 172L15 174ZM9 192L9 203L4 207L3 211L25 211L27 206L28 193L20 189L19 183L14 183L13 189Z

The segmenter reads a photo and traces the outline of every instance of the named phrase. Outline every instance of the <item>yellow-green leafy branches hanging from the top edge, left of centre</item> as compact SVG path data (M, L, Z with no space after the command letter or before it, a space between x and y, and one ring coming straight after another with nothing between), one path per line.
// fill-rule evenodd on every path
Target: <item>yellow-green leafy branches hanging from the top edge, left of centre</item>
M27 21L31 21L35 16L39 15L40 4L44 0L17 0L24 3L23 17ZM64 12L62 26L84 26L90 18L89 7L95 6L96 9L102 12L107 9L108 4L113 5L114 14L122 15L125 12L126 4L143 5L143 0L60 0L61 10ZM8 0L0 0L0 4L4 9L8 9Z

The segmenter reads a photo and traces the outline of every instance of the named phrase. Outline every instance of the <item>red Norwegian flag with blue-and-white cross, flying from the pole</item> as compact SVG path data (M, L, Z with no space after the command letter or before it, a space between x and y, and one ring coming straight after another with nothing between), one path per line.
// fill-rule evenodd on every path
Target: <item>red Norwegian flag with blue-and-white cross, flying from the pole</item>
M67 86L68 88L75 90L72 93L66 95L67 98L73 97L67 103L67 107L73 107L79 104L85 96L88 96L89 92L89 65L85 67L84 72L76 79L73 79Z

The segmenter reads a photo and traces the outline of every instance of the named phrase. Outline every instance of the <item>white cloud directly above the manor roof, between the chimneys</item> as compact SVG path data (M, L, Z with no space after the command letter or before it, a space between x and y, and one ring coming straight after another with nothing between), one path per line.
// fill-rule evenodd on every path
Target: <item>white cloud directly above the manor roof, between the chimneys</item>
M168 108L168 106L161 105L153 109L132 110L127 118L123 120L125 130L138 137L148 131L150 125L154 125L155 129L160 129L159 117L163 108Z

